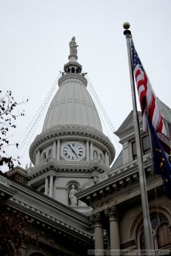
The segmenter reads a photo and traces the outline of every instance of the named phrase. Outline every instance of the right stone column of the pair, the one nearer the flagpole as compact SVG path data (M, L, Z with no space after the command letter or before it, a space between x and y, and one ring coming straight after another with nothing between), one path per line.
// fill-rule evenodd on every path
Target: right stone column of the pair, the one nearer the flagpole
M105 210L105 215L109 218L110 225L110 250L120 250L119 242L119 221L116 205L108 207ZM115 255L119 255L115 253Z

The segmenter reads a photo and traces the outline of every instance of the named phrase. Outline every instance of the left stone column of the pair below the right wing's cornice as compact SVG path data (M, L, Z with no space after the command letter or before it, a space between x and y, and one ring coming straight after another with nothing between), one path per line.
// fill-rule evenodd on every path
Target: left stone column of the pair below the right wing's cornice
M104 255L103 225L101 213L93 214L96 255ZM99 252L98 252L99 251Z

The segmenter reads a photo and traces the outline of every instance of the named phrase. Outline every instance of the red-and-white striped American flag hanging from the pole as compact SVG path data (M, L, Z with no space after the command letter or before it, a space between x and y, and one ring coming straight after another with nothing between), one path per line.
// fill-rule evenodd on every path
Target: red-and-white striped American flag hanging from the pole
M147 131L147 116L152 126L154 127L158 138L161 141L161 145L167 154L170 154L170 141L161 116L161 111L156 102L156 97L152 90L151 83L145 74L144 67L138 57L135 50L133 40L131 39L131 59L133 65L133 72L135 75L135 81L137 83L138 96L140 100L140 106L142 109L143 130Z

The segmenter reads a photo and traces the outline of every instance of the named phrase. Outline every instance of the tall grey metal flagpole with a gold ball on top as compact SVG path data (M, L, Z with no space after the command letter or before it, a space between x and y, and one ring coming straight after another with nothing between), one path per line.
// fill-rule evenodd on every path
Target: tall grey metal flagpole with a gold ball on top
M137 148L138 174L139 174L139 182L140 182L141 201L142 201L145 249L146 250L154 250L151 221L149 218L149 204L148 204L148 199L147 199L147 188L146 188L146 182L145 182L144 163L143 163L143 157L142 157L140 126L139 126L139 122L138 122L137 102L136 102L136 95L135 95L135 83L134 83L133 68L132 68L132 63L131 63L131 49L130 49L131 31L128 30L128 28L130 28L130 24L128 22L125 22L123 27L125 29L124 35L126 36L126 44L127 44L127 50L128 50L128 63L129 63L129 70L130 70L131 95L132 95L132 103L133 103L133 124L134 124L134 129L135 129L135 143L136 143L136 148Z

